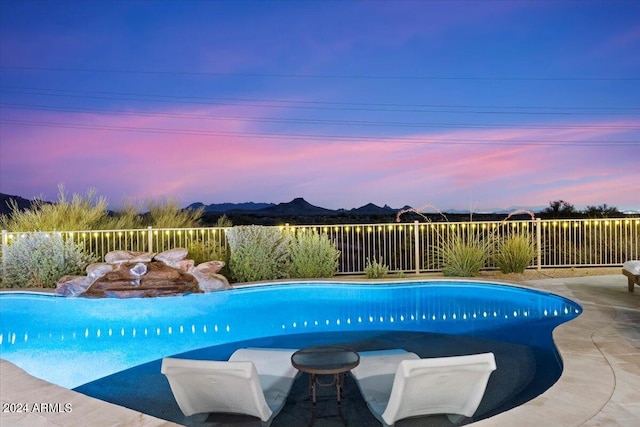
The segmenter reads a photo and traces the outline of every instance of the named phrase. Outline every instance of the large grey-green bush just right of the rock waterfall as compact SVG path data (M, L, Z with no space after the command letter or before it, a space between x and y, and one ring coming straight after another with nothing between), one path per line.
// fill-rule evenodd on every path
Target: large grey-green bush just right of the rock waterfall
M227 230L229 270L236 282L286 277L289 237L277 227L245 225Z

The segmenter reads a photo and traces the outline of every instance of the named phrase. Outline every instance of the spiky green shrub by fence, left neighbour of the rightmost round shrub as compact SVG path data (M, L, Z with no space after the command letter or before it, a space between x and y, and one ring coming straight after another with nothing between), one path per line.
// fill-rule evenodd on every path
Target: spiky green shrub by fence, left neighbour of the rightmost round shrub
M473 277L484 267L489 255L489 242L479 235L455 233L441 237L438 256L445 276Z

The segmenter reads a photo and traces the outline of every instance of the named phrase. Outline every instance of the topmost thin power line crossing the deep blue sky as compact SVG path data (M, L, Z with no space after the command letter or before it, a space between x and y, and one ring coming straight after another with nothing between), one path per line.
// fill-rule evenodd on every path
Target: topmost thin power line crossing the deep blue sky
M640 77L514 77L514 76L384 76L369 74L293 74L293 73L222 73L204 71L124 70L99 68L20 67L0 66L0 70L50 71L65 73L108 73L141 75L184 75L209 77L277 77L295 79L349 80L470 80L470 81L638 81Z

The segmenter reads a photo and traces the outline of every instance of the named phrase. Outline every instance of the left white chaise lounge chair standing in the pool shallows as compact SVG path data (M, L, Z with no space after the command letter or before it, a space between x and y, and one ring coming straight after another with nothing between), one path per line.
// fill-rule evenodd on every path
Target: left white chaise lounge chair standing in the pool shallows
M240 349L229 361L164 358L161 372L185 416L245 414L269 426L283 408L299 371L289 349Z

